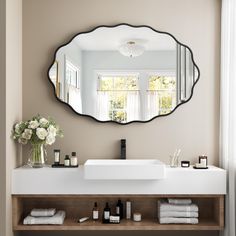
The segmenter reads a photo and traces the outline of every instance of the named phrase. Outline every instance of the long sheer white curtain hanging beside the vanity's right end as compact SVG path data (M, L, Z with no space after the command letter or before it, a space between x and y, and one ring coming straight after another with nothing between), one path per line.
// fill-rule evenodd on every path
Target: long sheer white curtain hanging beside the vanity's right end
M236 228L236 1L222 0L220 163L227 170L224 236L235 236Z

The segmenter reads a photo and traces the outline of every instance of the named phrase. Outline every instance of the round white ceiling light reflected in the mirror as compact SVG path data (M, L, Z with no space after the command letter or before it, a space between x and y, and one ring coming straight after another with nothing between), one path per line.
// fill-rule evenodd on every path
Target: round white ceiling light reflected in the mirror
M143 54L144 47L140 44L135 43L134 41L129 41L122 44L119 47L119 51L123 56L126 57L138 57Z

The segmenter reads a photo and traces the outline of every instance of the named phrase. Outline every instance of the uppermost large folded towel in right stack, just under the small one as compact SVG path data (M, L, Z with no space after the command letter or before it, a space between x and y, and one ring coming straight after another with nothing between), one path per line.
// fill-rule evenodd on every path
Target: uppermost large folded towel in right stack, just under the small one
M190 205L175 205L167 202L158 201L159 211L198 211L196 204Z

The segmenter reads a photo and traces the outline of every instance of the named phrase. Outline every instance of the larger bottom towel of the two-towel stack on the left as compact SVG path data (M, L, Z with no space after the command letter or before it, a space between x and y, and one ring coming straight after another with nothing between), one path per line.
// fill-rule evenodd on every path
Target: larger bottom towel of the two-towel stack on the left
M66 217L65 211L58 211L54 216L48 217L33 217L27 216L23 224L24 225L62 225Z

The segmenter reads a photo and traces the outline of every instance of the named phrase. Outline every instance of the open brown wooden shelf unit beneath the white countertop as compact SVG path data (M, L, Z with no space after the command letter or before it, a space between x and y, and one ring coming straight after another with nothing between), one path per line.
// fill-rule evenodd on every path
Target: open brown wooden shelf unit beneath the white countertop
M159 224L157 220L157 200L164 197L191 197L199 206L199 224ZM106 201L111 208L117 199L132 201L132 210L142 213L142 221L123 219L120 224L103 224L101 221L77 223L84 216L91 215L95 201L100 206L100 214ZM60 230L222 230L224 228L223 195L14 195L13 230L60 231ZM23 225L23 219L34 207L56 207L66 211L63 225Z

